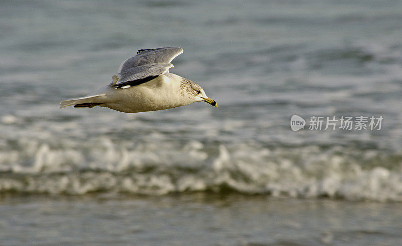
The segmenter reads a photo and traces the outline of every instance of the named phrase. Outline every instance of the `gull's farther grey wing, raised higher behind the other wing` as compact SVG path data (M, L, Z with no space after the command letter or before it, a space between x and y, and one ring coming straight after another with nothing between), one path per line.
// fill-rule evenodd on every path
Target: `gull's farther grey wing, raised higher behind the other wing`
M120 65L119 73L127 69L149 63L170 63L176 56L183 53L180 47L163 47L157 49L139 49L137 55L131 57Z

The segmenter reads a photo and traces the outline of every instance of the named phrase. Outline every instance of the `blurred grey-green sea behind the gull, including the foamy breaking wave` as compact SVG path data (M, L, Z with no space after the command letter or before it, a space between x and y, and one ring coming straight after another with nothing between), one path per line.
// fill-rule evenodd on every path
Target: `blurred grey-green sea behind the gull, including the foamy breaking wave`
M223 0L222 12L200 1L0 1L0 194L229 188L401 201L402 2L316 2ZM170 71L219 109L59 109L108 84L137 49L163 46L184 49ZM294 132L292 115L383 121Z

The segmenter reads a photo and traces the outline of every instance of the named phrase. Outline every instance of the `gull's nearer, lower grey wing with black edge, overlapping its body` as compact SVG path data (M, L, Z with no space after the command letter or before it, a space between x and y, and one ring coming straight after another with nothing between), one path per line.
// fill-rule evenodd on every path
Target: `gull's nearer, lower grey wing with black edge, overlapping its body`
M110 86L122 89L138 86L167 72L171 67L173 64L167 62L136 66L113 76L113 83Z

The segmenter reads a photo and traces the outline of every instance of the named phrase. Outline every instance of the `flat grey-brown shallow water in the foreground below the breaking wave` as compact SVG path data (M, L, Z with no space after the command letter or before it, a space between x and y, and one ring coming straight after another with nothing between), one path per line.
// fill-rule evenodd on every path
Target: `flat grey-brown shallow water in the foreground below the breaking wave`
M0 199L2 245L398 245L399 203L207 193Z

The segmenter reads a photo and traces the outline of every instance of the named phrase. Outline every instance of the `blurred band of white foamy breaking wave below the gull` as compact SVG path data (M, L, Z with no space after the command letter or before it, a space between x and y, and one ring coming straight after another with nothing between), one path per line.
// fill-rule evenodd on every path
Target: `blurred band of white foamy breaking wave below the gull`
M220 144L216 152L190 141L180 148L164 142L165 150L155 151L160 146L151 142L135 147L107 138L96 142L95 147L57 148L23 140L20 144L27 148L0 153L0 193L213 191L402 201L402 169L376 166L375 150L354 153L339 146L322 150L314 145L266 148L239 143ZM386 161L396 164L392 157Z

